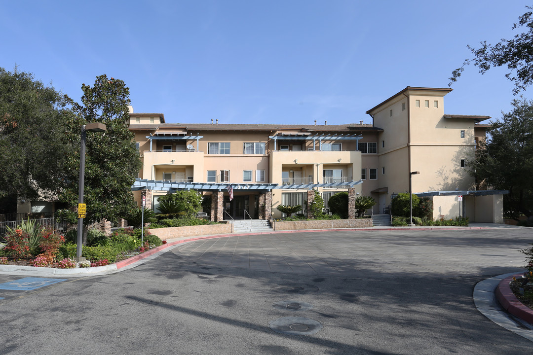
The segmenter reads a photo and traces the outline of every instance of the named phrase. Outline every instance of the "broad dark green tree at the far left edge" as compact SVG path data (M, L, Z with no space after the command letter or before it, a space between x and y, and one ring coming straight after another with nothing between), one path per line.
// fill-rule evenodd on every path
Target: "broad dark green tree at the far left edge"
M0 68L0 197L51 197L62 183L68 111L33 74Z

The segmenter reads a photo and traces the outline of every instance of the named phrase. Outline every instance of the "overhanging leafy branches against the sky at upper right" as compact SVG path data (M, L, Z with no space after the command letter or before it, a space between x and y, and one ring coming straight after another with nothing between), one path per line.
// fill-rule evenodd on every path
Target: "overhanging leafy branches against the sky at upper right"
M526 6L533 10L533 7ZM480 42L480 48L467 46L473 59L466 59L461 66L452 72L449 78L451 86L457 78L461 76L466 65L473 63L479 68L481 74L486 73L490 68L507 66L510 71L505 77L514 82L513 94L518 94L533 84L533 11L527 11L519 17L518 23L513 25L513 29L524 28L524 31L515 35L512 39L502 39L495 45L487 44L487 41Z

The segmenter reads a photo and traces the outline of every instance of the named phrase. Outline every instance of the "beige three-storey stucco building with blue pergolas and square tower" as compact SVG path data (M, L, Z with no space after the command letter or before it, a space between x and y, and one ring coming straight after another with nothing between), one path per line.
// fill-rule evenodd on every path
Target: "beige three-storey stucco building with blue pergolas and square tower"
M430 196L434 217L459 213L472 221L503 222L502 195L477 192L466 172L484 139L488 116L445 113L451 89L406 87L367 111L373 124L327 125L165 123L160 113L130 112L142 159L138 202L176 188L212 195L225 212L214 219L281 217L280 204L305 204L310 188L327 203L336 192L374 197L374 214L388 213L391 196L409 190ZM419 174L410 175L409 172ZM225 189L232 186L230 201ZM158 190L157 186L165 186ZM464 194L463 201L458 196ZM246 212L245 212L246 211Z

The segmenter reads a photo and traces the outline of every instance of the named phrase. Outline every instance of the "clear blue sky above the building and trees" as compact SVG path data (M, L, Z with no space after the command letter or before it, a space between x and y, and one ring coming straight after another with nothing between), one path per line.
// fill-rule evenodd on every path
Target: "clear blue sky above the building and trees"
M105 73L126 82L135 112L167 123L370 123L365 112L406 86L447 87L466 45L511 38L525 5L0 0L0 67L77 101ZM445 112L500 117L514 97L505 73L470 65Z

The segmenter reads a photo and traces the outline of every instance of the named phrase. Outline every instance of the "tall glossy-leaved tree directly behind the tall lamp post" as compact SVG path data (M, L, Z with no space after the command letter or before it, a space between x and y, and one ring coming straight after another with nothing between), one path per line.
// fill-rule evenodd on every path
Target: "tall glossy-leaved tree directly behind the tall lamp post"
M81 103L67 98L74 115L67 121L65 139L76 147L67 156L69 181L61 200L77 205L80 130L86 123L101 122L107 131L87 132L85 158L85 224L102 219L115 221L135 206L131 186L141 161L134 134L128 130L130 90L123 80L96 77L94 85L82 85ZM74 217L75 211L70 211Z

